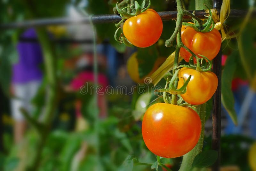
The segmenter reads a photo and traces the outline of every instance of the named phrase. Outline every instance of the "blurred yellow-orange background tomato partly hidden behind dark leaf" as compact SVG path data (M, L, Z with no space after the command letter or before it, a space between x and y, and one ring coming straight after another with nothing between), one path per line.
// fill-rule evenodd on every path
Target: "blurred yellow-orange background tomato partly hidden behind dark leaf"
M140 78L137 52L134 52L127 61L127 72L134 82L142 84L144 83L144 78L149 77L151 74L153 74L159 68L159 66L161 66L164 63L165 60L165 57L158 57L150 73L148 73L148 75L144 76L143 78Z

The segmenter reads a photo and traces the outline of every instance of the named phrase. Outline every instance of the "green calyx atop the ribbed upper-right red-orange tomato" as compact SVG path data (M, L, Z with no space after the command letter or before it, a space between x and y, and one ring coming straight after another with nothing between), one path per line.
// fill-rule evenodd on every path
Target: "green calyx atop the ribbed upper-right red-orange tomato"
M205 17L207 17L208 19L203 25L202 25L202 23L199 23L198 20L193 17L192 17L192 19L193 19L194 23L182 22L182 25L192 27L197 32L202 32L202 33L211 32L214 29L214 21L212 19L211 9L208 6L206 6L206 7L209 10L209 16L205 15ZM193 15L194 15L194 12L193 12Z

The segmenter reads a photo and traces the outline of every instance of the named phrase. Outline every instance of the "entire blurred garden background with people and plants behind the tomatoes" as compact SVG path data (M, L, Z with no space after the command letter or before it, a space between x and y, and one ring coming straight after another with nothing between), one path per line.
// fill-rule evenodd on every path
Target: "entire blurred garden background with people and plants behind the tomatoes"
M114 23L4 29L24 20L113 14L116 3L0 1L0 170L151 170L156 156L144 144L141 123L146 109L163 98L144 78L174 52L164 44L174 20L163 21L161 38L148 48L116 42ZM183 4L195 10L194 0ZM150 8L177 10L173 0L152 0ZM255 6L253 0L231 0L230 8ZM256 19L245 17L225 21L233 38L222 42L222 93L228 98L222 98L221 167L230 171L252 170L248 158L256 158L255 147L249 156L256 139ZM157 86L164 85L162 78ZM204 149L210 149L212 100L206 110ZM230 115L237 116L237 126ZM145 164L136 165L131 156ZM161 160L175 171L182 158Z

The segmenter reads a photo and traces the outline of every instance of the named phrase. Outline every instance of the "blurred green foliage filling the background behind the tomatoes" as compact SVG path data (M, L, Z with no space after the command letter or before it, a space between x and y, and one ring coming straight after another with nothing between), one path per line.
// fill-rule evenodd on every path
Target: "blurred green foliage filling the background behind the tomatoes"
M40 19L63 17L66 13L68 5L75 5L77 10L82 1L0 1L0 20L1 23L8 23L12 21L21 21L25 19ZM88 4L84 9L89 14L112 14L112 7L116 4L115 0L88 0ZM249 7L247 1L231 0L231 9L247 9ZM249 1L248 1L249 2ZM184 0L185 7L188 10L195 9L195 2L192 0ZM152 0L152 8L156 11L174 11L175 1L171 0ZM33 13L33 15L31 15ZM239 26L243 19L228 19L225 24L227 29L234 34L239 33ZM139 75L143 77L147 75L153 68L154 62L157 57L169 56L175 50L175 44L171 48L166 48L164 41L168 39L174 31L175 21L163 22L163 33L160 40L156 45L149 48L136 48L138 51L139 60ZM113 47L120 53L123 53L127 48L123 44L119 44L114 40L114 33L116 27L114 24L98 24L95 26L97 31L97 42L108 40ZM231 91L231 81L233 78L248 79L244 66L248 67L252 74L255 74L254 63L255 60L255 20L250 20L240 36L242 41L242 48L244 51L245 65L242 64L241 58L238 53L238 45L236 39L226 40L222 44L223 54L228 55L226 66L223 69L222 75L222 100L226 103L224 105L229 114L235 118L234 100ZM20 33L23 29L14 30L1 30L0 32L0 84L2 91L6 96L9 96L9 87L11 82L11 67L12 64L18 61L18 54L15 50L16 43L19 39ZM58 84L67 83L75 75L75 71L63 72L64 62L67 59L73 58L80 54L79 49L71 50L69 46L56 46L57 47L57 71L58 71ZM235 55L234 55L235 54ZM183 63L185 63L183 61ZM44 69L43 69L44 70ZM164 85L162 80L159 85ZM45 93L47 86L42 84L33 104L36 105L37 110L34 116L38 116L42 110L45 102ZM63 91L63 90L60 90ZM64 93L59 97L60 106L55 112L56 116L53 121L52 131L46 139L46 143L42 150L39 170L93 170L95 166L100 165L104 170L150 170L150 168L158 167L155 163L156 156L148 151L145 146L141 135L141 121L135 121L132 112L135 109L136 101L139 97L138 93L134 93L132 97L128 95L112 95L108 96L109 111L108 117L101 119L99 123L99 139L100 145L97 147L96 132L93 129L93 121L95 114L98 113L98 108L95 105L95 96L81 95L79 93ZM90 123L88 130L75 132L74 127L76 123L75 118L75 99L83 101L82 114L84 119ZM156 95L152 95L151 100L155 100ZM159 99L161 100L161 99ZM207 105L208 119L211 115L212 100L209 100ZM66 107L65 107L66 106ZM67 114L67 120L61 120L60 115ZM235 120L235 119L234 119ZM33 157L36 155L38 144L41 139L36 130L30 128L25 136L24 141L19 145L12 144L12 136L10 129L4 132L4 150L0 152L0 170L14 170L16 167L25 168L32 165ZM6 131L8 130L8 131ZM211 138L207 138L205 149L209 149ZM227 136L222 140L222 165L237 164L243 170L248 170L248 165L245 159L247 153L247 146L252 142L250 138L240 136ZM86 143L87 148L84 152L84 157L80 160L75 160L76 154ZM96 155L96 148L99 148L100 159ZM29 157L28 157L29 156ZM83 155L82 155L83 156ZM128 156L128 157L127 157ZM181 158L169 160L161 159L164 164L172 164L173 170L178 170ZM138 162L147 163L148 165L138 165ZM99 164L100 163L100 164ZM124 164L124 165L122 165ZM152 166L151 166L152 164ZM121 166L122 165L122 166ZM124 167L126 166L126 167Z

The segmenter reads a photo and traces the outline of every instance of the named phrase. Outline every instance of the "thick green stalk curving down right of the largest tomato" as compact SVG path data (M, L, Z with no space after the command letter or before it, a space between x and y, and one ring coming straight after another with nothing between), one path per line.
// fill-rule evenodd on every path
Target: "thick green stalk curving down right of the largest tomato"
M206 103L202 105L198 105L196 107L196 113L198 113L201 123L202 123L202 129L200 138L196 144L196 146L187 154L183 156L182 163L180 166L179 171L186 171L186 170L192 170L192 163L194 161L194 158L197 154L202 152L203 144L204 144L204 124L205 124L205 112L206 112ZM196 171L197 168L194 168L193 171Z

